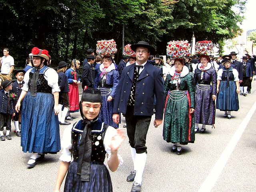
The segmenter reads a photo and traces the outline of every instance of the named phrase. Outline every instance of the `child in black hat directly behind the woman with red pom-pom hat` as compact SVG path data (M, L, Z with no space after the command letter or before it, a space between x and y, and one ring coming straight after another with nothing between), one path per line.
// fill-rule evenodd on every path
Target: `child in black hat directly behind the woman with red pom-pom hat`
M16 72L14 73L17 81L12 83L12 92L14 94L16 94L16 98L13 102L13 106L16 106L17 101L20 97L20 94L22 92L22 87L24 84L23 78L24 78L24 74L26 73L25 70L19 69L16 70ZM13 117L14 120L14 126L15 126L15 131L16 131L16 136L20 137L20 124L21 124L21 110L15 114L15 116Z

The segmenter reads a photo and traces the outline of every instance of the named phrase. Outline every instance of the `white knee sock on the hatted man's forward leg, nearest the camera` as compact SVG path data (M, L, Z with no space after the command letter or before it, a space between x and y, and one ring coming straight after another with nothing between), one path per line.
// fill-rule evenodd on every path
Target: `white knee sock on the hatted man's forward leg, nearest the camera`
M144 153L136 153L135 156L135 165L134 165L134 170L136 170L136 176L134 178L134 182L137 182L141 184L142 182L142 174L145 168L147 160L147 154L146 152Z

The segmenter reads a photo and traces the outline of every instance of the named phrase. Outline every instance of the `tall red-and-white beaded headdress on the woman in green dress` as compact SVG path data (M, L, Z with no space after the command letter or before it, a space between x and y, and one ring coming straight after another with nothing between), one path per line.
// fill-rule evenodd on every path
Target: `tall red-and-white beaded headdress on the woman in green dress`
M188 41L168 42L166 54L171 58L182 58L191 54L190 43Z

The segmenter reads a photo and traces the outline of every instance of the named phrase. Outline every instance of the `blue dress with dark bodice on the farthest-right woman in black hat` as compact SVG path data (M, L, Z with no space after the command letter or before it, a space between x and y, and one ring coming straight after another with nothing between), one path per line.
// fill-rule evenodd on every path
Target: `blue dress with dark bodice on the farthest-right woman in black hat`
M222 77L217 94L216 108L221 111L238 111L239 101L236 93L236 82L234 81L233 68L222 69Z

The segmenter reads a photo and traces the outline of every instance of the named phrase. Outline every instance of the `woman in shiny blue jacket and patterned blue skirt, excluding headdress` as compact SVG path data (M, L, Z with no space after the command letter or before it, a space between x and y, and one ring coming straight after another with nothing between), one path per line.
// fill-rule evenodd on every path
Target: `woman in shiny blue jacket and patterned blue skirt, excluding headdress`
M113 122L112 112L119 82L119 73L110 55L103 56L102 64L100 64L97 73L100 75L95 83L102 95L102 108L99 119L114 128L118 128L118 124Z

